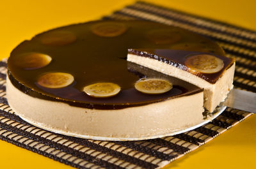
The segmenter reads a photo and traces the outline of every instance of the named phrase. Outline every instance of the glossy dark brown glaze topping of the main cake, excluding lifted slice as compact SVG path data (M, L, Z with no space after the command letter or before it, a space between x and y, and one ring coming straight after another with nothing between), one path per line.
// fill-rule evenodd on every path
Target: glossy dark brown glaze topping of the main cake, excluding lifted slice
M109 36L95 33L102 31L102 23L108 25L107 33L111 32ZM121 31L117 30L118 34L115 35L118 27ZM164 36L166 33L168 36ZM172 34L175 34L174 40L170 40ZM77 107L115 109L147 105L200 92L202 89L143 66L131 63L127 66L127 49L176 49L180 47L179 44L184 43L193 44L198 52L225 55L211 40L177 27L146 21L95 21L60 27L23 41L8 59L8 77L17 89L30 96L61 101ZM33 70L17 66L20 55L29 52L49 55L52 61L47 66ZM38 85L38 77L49 72L70 73L75 80L71 85L60 89ZM142 94L134 89L134 83L141 77L168 79L173 83L173 89L164 94ZM84 94L84 86L97 82L113 82L120 85L121 91L111 98L93 98Z

